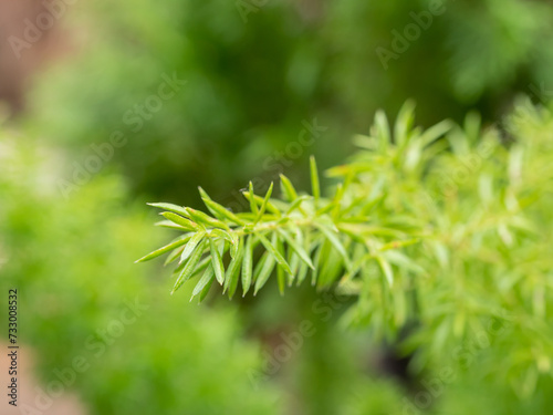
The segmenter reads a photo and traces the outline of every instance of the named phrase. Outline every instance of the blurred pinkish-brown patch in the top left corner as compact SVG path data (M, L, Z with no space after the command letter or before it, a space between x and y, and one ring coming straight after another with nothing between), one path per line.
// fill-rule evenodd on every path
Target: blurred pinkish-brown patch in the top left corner
M0 0L0 102L7 104L12 116L24 110L24 91L31 75L61 52L59 20L64 13L53 15L46 6L50 3L55 0ZM36 39L25 38L25 31L36 27L41 13L50 15L52 27L39 29ZM13 46L15 38L30 44L20 50L19 56Z

